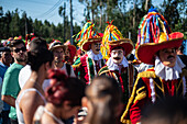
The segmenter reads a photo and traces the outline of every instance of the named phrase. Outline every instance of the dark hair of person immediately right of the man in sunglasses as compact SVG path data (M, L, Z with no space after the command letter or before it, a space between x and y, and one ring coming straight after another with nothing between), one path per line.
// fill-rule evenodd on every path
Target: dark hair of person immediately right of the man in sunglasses
M41 49L41 48L46 48L47 49L47 43L44 38L42 37L35 37L31 41L30 44L30 50L34 49Z

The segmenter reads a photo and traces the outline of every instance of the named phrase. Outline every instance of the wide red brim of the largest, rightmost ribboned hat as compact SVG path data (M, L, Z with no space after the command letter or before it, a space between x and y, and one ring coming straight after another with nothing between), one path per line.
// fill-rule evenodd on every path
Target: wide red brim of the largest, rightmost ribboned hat
M176 36L177 34L177 36ZM183 43L183 33L172 33L169 35L169 41L164 41L162 43L147 43L140 45L135 52L135 56L142 63L154 65L155 54L164 48L178 48Z

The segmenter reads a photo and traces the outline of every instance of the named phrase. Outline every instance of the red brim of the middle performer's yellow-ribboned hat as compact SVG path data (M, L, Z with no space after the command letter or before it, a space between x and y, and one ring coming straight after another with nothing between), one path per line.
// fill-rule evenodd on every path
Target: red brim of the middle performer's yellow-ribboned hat
M118 46L123 47L123 49L125 50L125 57L132 52L132 49L134 48L133 43L131 40L129 38L122 38L120 41L111 41L109 42L109 46L110 46L110 52Z

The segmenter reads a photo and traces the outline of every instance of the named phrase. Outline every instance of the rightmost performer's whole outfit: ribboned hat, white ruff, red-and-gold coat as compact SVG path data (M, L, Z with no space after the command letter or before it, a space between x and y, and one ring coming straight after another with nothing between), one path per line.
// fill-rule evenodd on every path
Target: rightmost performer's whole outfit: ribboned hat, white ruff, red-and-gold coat
M186 95L187 70L183 69L185 65L174 49L182 45L183 33L170 33L167 21L154 9L148 11L140 27L136 57L142 63L154 65L154 67L138 75L131 98L121 116L121 122L124 124L140 123L141 110L158 99ZM169 50L162 55L167 58L173 56L176 59L173 61L174 66L165 66L161 60L163 57L160 54L161 50L169 48L174 52Z

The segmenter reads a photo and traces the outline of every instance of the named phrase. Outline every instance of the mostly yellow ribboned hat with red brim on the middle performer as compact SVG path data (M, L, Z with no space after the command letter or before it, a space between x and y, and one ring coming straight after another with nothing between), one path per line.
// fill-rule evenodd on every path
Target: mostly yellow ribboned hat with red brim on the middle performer
M109 59L111 49L118 46L123 47L125 56L128 56L133 49L133 43L131 40L124 38L118 27L111 23L106 27L103 33L101 44L102 56L103 58Z

